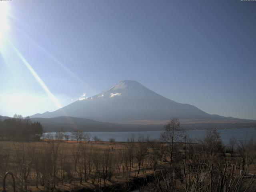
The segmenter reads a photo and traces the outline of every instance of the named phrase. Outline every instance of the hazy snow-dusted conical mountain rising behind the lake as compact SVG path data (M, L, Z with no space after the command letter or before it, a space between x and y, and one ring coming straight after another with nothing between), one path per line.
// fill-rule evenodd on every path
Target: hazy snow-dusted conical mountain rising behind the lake
M104 122L129 120L220 119L189 104L165 98L140 83L124 80L90 98L81 98L54 112L31 117L72 116Z

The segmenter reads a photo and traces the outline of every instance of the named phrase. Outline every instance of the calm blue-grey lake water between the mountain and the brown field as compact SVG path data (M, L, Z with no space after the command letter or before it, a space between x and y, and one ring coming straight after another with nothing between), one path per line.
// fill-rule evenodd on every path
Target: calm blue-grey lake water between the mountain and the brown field
M187 130L184 134L192 140L196 141L196 139L201 139L206 136L208 130ZM222 142L224 144L228 144L231 137L235 137L237 140L248 141L250 138L256 138L256 129L254 128L239 128L239 129L220 129L218 130L220 133ZM110 138L114 138L116 141L125 142L128 138L132 136L135 137L135 141L138 140L138 136L142 135L145 138L149 136L151 140L159 139L162 131L144 131L144 132L89 132L91 134L91 140L94 136L97 136L103 141L108 141ZM46 137L46 134L56 134L56 132L45 133L43 138ZM72 136L71 132L67 132Z

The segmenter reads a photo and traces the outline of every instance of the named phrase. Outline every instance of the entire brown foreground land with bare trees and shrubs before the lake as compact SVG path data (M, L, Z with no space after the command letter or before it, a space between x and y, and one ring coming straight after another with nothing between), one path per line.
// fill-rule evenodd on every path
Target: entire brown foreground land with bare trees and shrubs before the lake
M210 136L202 143L173 144L144 138L138 142L2 141L0 179L11 171L17 191L38 192L115 191L117 185L120 191L129 191L136 178L146 178L146 184L151 178L142 188L149 192L189 192L199 188L215 191L230 182L240 183L237 192L246 191L247 183L255 190L254 140L231 149L214 139L216 135ZM244 174L240 176L243 168ZM12 190L10 179L8 176L8 190ZM165 182L170 186L166 188Z

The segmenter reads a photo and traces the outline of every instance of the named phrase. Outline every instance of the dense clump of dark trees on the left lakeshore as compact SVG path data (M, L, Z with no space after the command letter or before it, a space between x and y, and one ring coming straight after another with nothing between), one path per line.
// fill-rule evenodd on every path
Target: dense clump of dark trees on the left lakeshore
M13 118L0 120L1 140L39 141L42 134L40 122L31 122L29 117L15 114Z

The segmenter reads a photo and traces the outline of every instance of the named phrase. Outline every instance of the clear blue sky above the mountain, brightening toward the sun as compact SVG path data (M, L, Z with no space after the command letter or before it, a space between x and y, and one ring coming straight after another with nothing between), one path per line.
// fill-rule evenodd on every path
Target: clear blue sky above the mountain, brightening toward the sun
M0 115L56 110L136 80L210 114L256 119L256 2L6 3Z

